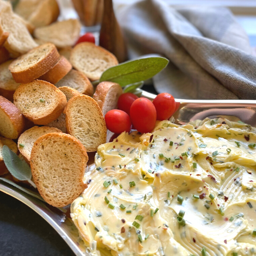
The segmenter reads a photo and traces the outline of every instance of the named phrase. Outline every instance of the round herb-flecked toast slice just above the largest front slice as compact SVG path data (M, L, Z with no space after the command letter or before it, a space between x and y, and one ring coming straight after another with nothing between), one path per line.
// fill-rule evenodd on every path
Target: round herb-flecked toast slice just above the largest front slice
M67 99L53 84L34 80L20 84L13 95L13 102L33 123L47 124L60 116Z

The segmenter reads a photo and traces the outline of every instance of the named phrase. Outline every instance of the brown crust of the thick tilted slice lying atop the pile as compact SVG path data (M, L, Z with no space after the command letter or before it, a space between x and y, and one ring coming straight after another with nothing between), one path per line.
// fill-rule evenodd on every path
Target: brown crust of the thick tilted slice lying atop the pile
M37 49L45 48L45 47L51 47L50 52L48 53L47 56L45 56L45 58L42 58L40 61L35 63L34 66L28 67L27 69L24 69L22 71L18 71L15 69L15 65L18 65L20 59L23 59L24 57L32 55ZM16 60L14 60L10 64L9 70L11 71L13 79L16 82L27 83L37 79L38 77L44 75L46 72L52 69L55 66L58 59L59 59L59 53L56 47L51 43L46 43L18 57Z

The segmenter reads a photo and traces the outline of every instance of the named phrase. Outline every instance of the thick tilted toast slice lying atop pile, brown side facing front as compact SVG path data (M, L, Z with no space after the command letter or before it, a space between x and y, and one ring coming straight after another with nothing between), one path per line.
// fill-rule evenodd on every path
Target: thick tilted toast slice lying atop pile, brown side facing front
M47 43L15 59L9 69L16 82L31 82L52 69L58 59L56 47Z

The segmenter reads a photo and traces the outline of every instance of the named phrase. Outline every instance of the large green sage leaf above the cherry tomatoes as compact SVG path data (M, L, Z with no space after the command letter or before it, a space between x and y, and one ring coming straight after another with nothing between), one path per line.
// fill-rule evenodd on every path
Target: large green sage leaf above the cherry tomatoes
M127 84L153 77L164 69L168 62L163 57L150 57L123 62L104 71L99 81L112 81L119 83L121 87L125 87Z

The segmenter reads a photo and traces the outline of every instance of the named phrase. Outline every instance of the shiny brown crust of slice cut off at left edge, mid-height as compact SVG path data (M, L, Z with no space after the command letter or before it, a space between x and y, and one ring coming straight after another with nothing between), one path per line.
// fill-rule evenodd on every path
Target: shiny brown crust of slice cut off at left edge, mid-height
M0 108L9 117L14 127L12 134L1 134L8 139L17 139L20 134L24 131L25 119L19 109L8 99L0 96ZM4 123L3 123L4 124ZM3 125L1 123L1 125Z

